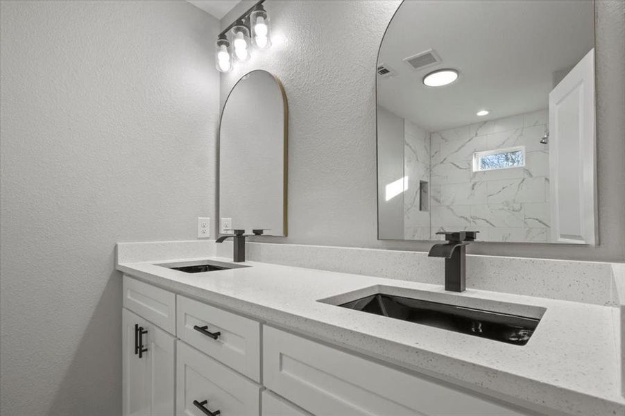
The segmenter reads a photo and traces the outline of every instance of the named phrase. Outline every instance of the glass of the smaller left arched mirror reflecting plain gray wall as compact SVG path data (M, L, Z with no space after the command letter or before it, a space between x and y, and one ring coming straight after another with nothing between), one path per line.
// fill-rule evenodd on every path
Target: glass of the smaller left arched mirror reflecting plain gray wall
M271 73L252 71L232 88L219 127L220 227L286 236L287 119Z

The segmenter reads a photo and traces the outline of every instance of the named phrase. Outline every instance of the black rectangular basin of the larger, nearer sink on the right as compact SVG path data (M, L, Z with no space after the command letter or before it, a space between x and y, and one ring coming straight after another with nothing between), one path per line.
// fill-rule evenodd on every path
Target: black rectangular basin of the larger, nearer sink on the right
M515 345L525 345L540 322L539 318L382 293L339 306Z

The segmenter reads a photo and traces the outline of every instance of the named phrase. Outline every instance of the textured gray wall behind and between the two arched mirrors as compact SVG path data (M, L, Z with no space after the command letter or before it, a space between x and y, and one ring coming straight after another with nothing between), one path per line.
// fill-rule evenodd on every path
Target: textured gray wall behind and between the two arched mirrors
M222 20L228 25L253 1ZM266 69L289 98L289 237L276 243L427 250L377 241L375 64L399 1L268 0L282 38L221 76L221 103L243 74ZM625 260L625 3L597 1L598 247L480 243L475 254Z

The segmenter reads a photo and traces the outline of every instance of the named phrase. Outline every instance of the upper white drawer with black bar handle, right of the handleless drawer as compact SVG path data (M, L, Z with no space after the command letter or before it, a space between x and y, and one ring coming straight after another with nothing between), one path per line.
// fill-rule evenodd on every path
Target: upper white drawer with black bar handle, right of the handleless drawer
M180 295L177 303L178 338L260 381L259 322Z

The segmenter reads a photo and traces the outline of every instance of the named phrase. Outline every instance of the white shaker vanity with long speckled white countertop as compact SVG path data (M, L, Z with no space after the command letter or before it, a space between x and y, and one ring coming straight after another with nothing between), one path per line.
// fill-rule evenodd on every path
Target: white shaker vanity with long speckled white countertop
M124 274L123 415L625 410L617 308L230 263L216 257L214 248L204 257L121 253L153 246L118 245L117 269ZM188 272L200 264L218 267ZM377 293L508 313L538 326L526 343L514 344L339 306Z

